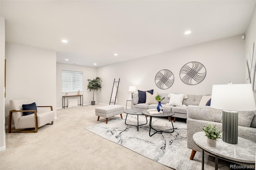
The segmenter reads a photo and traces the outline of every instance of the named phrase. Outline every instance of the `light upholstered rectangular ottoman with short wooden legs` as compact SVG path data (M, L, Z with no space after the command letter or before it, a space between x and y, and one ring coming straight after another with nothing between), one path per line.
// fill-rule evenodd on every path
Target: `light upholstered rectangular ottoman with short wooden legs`
M122 113L124 113L124 107L120 105L107 105L95 108L95 115L98 116L98 121L100 117L106 117L106 124L108 123L108 117L120 114L123 119Z

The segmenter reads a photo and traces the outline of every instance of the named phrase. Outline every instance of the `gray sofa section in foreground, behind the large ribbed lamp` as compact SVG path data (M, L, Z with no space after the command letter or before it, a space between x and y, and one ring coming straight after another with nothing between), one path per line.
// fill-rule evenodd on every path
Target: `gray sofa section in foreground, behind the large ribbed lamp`
M201 128L209 123L222 130L222 110L210 106L188 106L187 118L187 144L192 149L192 160L196 151L202 152L194 143L193 134L202 131ZM238 136L256 142L256 111L238 112Z

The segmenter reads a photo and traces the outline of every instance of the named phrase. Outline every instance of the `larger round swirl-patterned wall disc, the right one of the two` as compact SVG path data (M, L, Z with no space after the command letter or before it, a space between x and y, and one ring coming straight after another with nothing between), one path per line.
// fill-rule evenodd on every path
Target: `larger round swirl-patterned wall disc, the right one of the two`
M186 63L180 69L180 79L187 85L196 85L204 80L206 69L198 62Z

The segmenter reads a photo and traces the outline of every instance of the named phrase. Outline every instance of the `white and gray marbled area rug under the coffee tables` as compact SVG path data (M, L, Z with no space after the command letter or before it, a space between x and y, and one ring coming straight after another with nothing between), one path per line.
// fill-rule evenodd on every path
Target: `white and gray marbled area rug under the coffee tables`
M149 122L149 117L147 118ZM139 127L126 125L125 119L110 119L108 124L99 123L86 130L106 138L116 144L120 144L142 156L154 160L160 164L176 170L198 170L202 169L202 153L197 152L194 160L190 160L191 149L187 148L187 126L185 122L176 121L173 133L156 133L149 136L149 123ZM127 124L136 125L137 118L128 115ZM139 115L139 123L146 123L144 115ZM168 119L152 118L152 125L155 129L168 131L172 128ZM154 130L152 131L154 132ZM151 132L151 133L152 133ZM214 157L205 155L204 169L214 170ZM228 170L226 161L219 160L218 168Z

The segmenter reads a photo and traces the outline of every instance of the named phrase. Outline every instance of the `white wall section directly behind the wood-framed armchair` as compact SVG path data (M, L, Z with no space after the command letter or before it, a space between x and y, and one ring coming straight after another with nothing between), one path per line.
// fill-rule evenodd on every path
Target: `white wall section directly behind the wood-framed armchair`
M56 117L56 52L6 43L5 118L10 100L32 98L38 106L52 105Z

